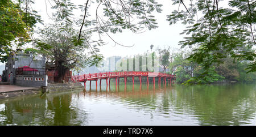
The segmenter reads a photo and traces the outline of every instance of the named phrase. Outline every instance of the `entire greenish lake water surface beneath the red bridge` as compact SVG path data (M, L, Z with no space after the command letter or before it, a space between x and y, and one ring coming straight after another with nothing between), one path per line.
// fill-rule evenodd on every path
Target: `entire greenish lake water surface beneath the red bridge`
M0 100L0 125L256 124L256 84L88 85Z

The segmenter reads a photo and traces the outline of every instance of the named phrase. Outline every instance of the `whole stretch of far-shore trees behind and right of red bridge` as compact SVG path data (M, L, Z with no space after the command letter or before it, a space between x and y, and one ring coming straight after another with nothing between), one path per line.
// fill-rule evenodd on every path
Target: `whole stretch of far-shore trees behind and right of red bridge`
M159 54L159 72L176 75L176 83L180 84L210 84L210 83L251 83L256 81L256 72L247 72L246 68L249 61L238 61L232 57L222 58L222 63L214 63L207 72L204 68L188 59L192 54L191 49L156 49L152 53L144 53L135 55L128 60L133 59L133 71L135 71L135 62L139 61L139 71L142 71L142 58L152 54L155 58L156 52L162 52L162 57ZM166 55L167 57L163 58ZM139 57L139 59L137 59ZM167 61L168 60L168 61ZM164 62L164 63L163 63ZM154 64L154 62L152 62ZM147 63L146 63L147 65ZM164 66L163 66L164 65ZM127 66L129 62L127 61ZM167 67L166 67L167 66ZM148 70L146 70L148 71ZM120 79L122 80L122 79ZM129 82L130 79L127 79ZM135 80L139 80L135 78ZM142 79L144 82L145 79ZM152 79L150 79L151 81ZM156 80L158 82L158 80Z

